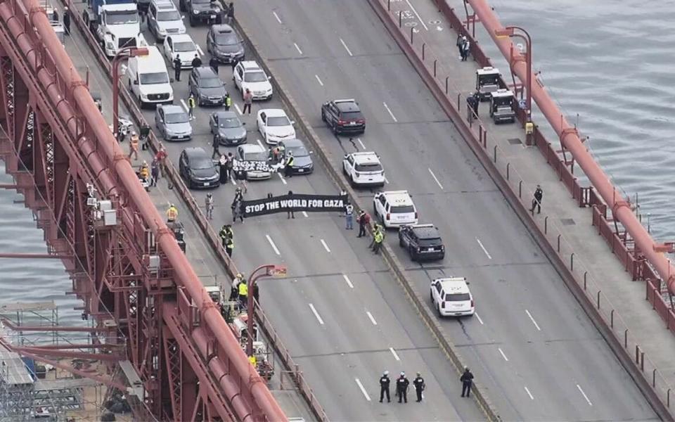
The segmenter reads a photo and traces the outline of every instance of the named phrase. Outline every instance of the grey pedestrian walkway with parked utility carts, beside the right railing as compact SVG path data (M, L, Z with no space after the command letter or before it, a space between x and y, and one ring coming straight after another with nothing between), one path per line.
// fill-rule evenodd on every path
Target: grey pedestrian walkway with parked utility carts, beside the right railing
M394 22L398 23L400 18L401 32L408 41L412 34L413 48L420 58L424 44L424 63L432 74L435 68L440 87L444 87L446 76L449 76L449 98L456 103L460 94L461 115L466 119L465 99L475 91L475 72L480 66L473 57L468 61L460 60L456 47L457 32L439 13L432 0L379 1L385 10L389 4ZM462 18L462 1L449 1L449 4ZM476 24L476 32L484 32L480 23ZM487 42L488 38L482 39ZM501 61L494 60L497 63ZM510 83L508 65L500 65L499 68L504 79ZM523 127L518 122L494 124L489 116L488 104L480 103L480 123L473 122L474 132L477 134L479 125L487 131L487 153L493 160L496 159L503 177L506 178L508 174L510 187L516 195L522 189L521 201L528 209L536 186L541 185L543 199L541 214L534 215L536 224L542 232L546 232L549 243L560 251L567 266L570 267L570 262L573 262L573 272L582 286L584 273L587 273L586 295L593 303L600 298L600 314L608 325L613 321L612 330L621 343L624 343L624 335L628 330L624 344L628 354L635 355L636 345L645 352L645 378L651 384L655 377L657 392L665 402L667 390L675 385L671 357L671 351L675 350L675 338L664 328L664 321L645 300L645 283L631 280L630 274L624 271L605 239L598 236L598 228L591 225L591 208L579 207L539 148L526 146ZM543 118L535 121L535 124L548 126ZM554 144L557 141L550 140ZM578 166L574 172L583 179ZM657 369L655 373L654 369Z

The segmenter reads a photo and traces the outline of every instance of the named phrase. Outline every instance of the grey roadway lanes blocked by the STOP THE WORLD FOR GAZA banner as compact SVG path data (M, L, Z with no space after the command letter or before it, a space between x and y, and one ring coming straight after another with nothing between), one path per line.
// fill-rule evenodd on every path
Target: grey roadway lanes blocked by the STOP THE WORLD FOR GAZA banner
M207 28L186 26L188 33L205 51ZM145 25L143 30L146 39L154 39ZM94 63L82 39L75 36L73 40L73 51L81 53L85 63ZM203 61L207 63L207 54ZM91 65L91 72L96 84L107 84L98 67ZM172 70L169 72L173 76ZM221 67L220 76L226 82L226 88L233 91L229 65ZM176 104L181 103L181 98L186 101L187 77L188 71L184 70L181 82L173 84ZM233 96L233 100L240 110L240 96ZM105 98L105 107L110 107L108 98ZM259 139L255 132L255 113L260 108L282 108L282 105L277 98L254 104L253 113L243 117L250 130L249 143ZM169 158L176 165L186 146L203 146L206 151L211 151L208 115L214 110L217 108L196 110L192 141L164 142ZM146 110L144 115L153 125L153 111ZM230 150L221 147L221 151ZM231 222L229 205L234 188L229 184L212 191L216 228ZM337 193L326 170L315 162L315 171L309 176L287 181L275 175L269 181L249 182L245 197L264 198L267 193L284 194L288 190ZM198 203L203 203L206 192L193 191ZM383 260L366 252L369 239L358 239L356 231L345 231L344 218L337 214L305 216L298 212L295 219L287 219L286 215L248 219L245 224L235 224L234 231L234 259L245 274L264 263L283 262L288 266L287 278L261 281L261 303L330 419L446 421L484 418L473 400L459 397L461 385L455 370L401 294ZM411 388L411 403L407 406L378 403L378 379L385 369L392 376L392 393L394 378L399 371L406 371L411 381L416 371L422 372L428 386L425 402L416 404ZM394 397L392 400L395 401Z

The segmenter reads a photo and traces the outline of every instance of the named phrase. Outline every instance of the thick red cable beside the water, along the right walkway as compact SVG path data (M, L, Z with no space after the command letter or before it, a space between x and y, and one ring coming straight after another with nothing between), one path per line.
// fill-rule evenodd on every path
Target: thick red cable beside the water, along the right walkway
M487 1L466 1L471 5L478 18L480 18L480 22L496 46L499 47L499 51L501 51L503 56L508 60L509 54L513 49L514 57L519 58L521 56L520 52L517 48L513 47L510 39L496 36L496 32L505 30L506 28L501 25L491 6L487 4ZM513 72L518 75L521 81L527 79L527 66L524 59L515 60ZM572 153L572 157L577 161L581 170L584 170L584 174L589 178L593 187L596 188L596 191L600 193L605 203L608 204L608 207L612 210L612 215L621 222L626 231L634 239L639 252L647 257L650 264L655 267L662 279L667 282L669 292L675 294L675 266L670 264L667 257L660 252L658 244L631 211L629 201L617 191L608 175L605 174L602 167L593 159L593 155L589 153L584 143L582 143L577 130L567 122L565 115L555 104L553 98L546 93L544 87L539 83L532 84L532 98L534 98L534 102L539 106L539 110L541 110L541 113L544 114L546 120L551 124L555 133L560 137L560 143Z

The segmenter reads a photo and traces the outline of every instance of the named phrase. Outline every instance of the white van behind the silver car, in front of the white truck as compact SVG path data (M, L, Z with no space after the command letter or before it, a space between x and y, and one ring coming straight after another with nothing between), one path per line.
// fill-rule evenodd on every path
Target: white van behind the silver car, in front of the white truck
M173 79L169 79L164 56L156 46L148 46L148 56L129 58L126 74L129 89L139 99L141 108L146 104L173 103Z

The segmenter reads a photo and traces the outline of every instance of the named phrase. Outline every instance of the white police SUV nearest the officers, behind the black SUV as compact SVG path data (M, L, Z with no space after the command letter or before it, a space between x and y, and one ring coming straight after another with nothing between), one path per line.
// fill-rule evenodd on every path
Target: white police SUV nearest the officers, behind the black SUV
M435 279L429 294L439 316L465 316L476 312L465 277Z

